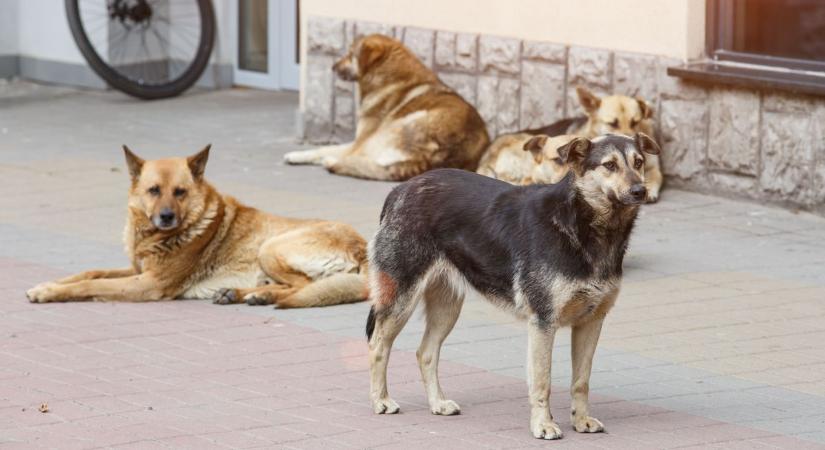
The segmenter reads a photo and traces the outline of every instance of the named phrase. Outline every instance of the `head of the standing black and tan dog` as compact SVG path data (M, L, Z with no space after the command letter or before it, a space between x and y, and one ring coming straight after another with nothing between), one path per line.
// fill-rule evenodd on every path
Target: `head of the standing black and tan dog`
M645 157L659 146L644 133L576 138L558 149L576 174L576 185L590 203L640 205L645 202Z

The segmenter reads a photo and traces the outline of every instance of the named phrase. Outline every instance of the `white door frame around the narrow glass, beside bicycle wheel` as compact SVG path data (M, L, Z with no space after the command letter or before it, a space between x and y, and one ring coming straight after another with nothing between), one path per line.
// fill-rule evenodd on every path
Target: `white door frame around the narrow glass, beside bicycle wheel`
M298 90L300 65L295 62L297 1L267 0L267 70L255 72L238 67L238 3L229 1L229 35L234 84L270 90Z

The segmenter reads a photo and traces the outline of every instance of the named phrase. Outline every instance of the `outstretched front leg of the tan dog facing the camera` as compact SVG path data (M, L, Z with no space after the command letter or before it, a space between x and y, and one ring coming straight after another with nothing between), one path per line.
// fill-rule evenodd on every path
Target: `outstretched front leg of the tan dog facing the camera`
M142 273L123 278L101 278L72 283L42 283L26 292L32 303L69 301L154 301L164 292L156 277Z

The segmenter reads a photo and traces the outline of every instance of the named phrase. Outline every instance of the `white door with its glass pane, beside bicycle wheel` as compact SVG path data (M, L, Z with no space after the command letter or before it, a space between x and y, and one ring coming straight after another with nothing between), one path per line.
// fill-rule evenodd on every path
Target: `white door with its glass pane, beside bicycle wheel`
M298 90L298 0L232 0L235 84Z

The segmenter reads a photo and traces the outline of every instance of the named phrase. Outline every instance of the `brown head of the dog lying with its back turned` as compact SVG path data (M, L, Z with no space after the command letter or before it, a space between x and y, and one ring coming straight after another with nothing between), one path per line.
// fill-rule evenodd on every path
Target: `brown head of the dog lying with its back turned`
M332 70L346 81L376 78L377 83L403 78L410 73L429 72L400 41L383 34L370 34L355 40Z

